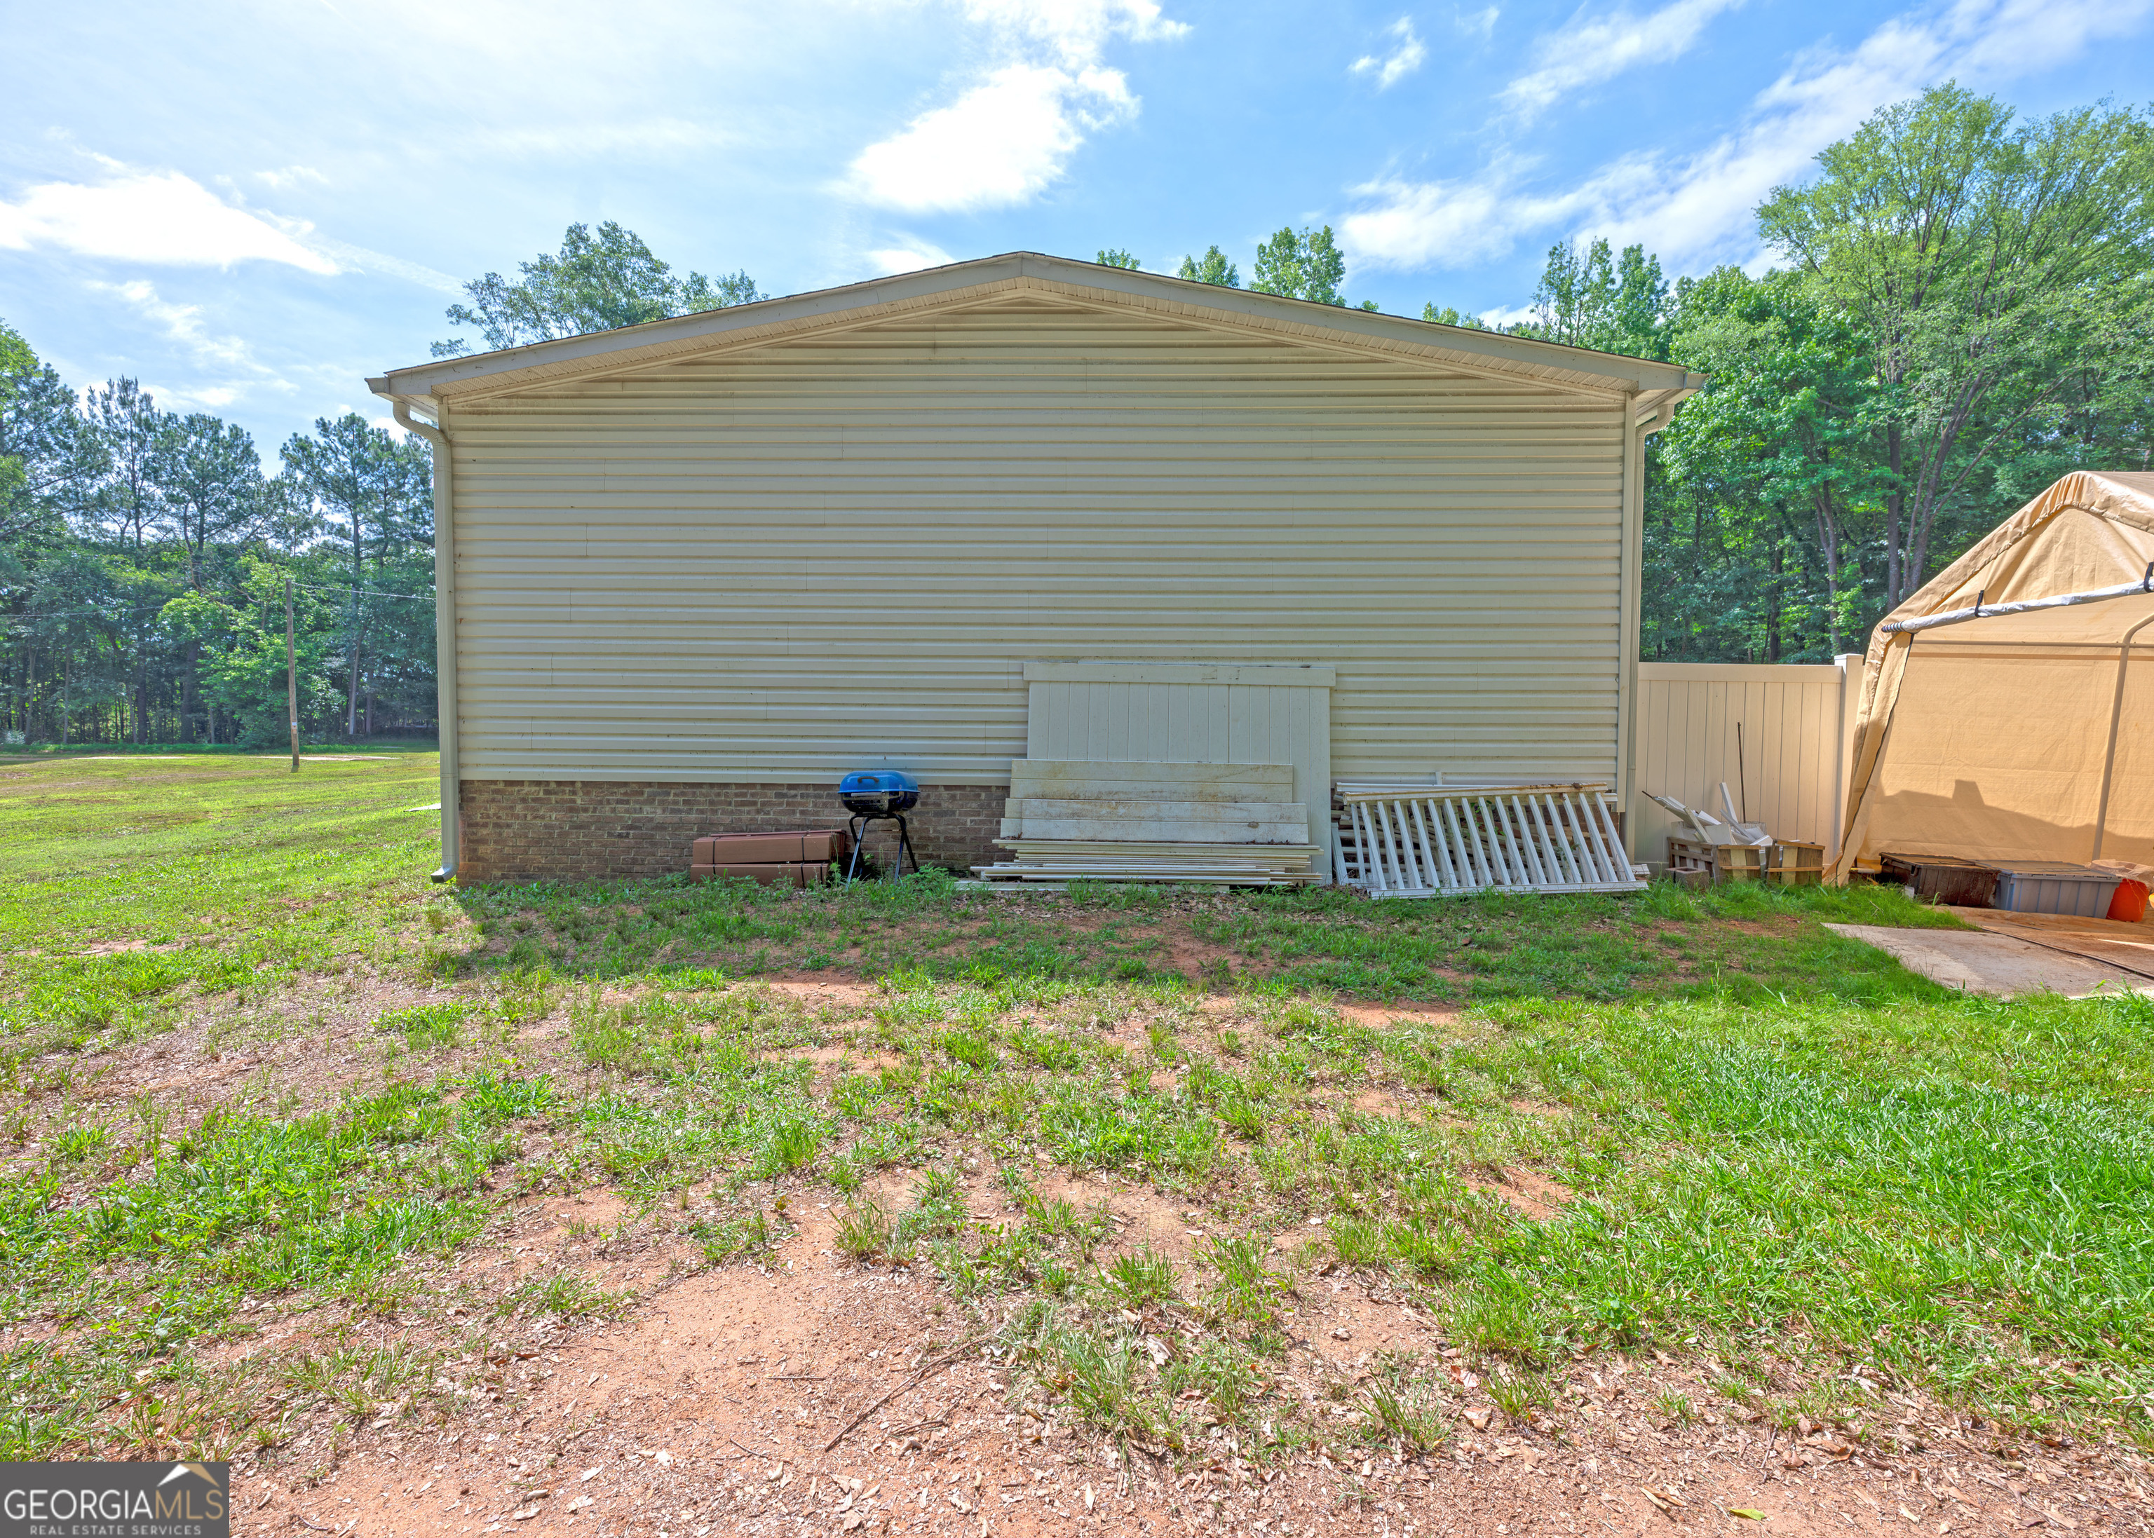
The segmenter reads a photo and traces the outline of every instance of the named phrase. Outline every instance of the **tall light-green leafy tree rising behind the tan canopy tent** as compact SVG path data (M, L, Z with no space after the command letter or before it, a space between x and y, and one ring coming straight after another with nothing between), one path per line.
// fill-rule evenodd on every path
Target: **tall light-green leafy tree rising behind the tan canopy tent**
M1887 392L1885 601L1930 571L1939 513L2029 422L2139 368L2154 134L2079 108L2012 127L1936 86L1818 155L1758 209L1766 243L1872 340Z

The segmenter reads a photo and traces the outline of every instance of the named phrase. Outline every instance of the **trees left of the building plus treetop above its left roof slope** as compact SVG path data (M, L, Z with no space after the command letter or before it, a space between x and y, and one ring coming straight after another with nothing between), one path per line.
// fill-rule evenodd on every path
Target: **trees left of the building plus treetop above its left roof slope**
M763 297L618 224L487 274L448 319L517 347ZM435 355L470 351L463 338ZM289 627L289 633L286 633ZM69 388L0 321L0 719L11 743L433 735L433 461L358 414L265 465L136 379Z

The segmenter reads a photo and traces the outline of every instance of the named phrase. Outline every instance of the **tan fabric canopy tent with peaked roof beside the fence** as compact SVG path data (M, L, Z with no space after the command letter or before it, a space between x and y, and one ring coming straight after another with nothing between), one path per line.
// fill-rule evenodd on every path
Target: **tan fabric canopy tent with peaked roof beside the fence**
M1840 864L2154 864L2154 474L2070 474L1885 616ZM2005 612L1997 612L2005 610Z

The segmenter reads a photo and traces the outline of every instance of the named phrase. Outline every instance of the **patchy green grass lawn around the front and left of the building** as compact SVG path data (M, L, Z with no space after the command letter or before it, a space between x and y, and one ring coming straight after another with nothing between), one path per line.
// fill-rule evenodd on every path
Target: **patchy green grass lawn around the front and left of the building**
M0 1458L452 1415L502 1320L635 1305L459 1269L599 1187L689 1269L836 1200L1032 1392L1167 1448L1318 1435L1251 1383L1340 1269L1521 1415L1654 1348L1728 1413L1889 1437L1893 1389L2154 1435L2154 1006L1969 999L1822 928L1954 922L1896 890L442 890L435 795L416 752L0 760ZM965 1211L956 1155L1021 1224ZM1236 1239L1122 1249L1053 1193L1077 1172ZM1170 1361L1129 1323L1159 1312L1198 1342ZM1415 1383L1357 1389L1361 1435L1441 1435Z

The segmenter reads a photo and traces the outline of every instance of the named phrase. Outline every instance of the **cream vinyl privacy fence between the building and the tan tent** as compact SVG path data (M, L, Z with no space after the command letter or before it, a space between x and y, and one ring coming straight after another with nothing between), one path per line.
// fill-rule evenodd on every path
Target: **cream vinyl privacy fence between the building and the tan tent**
M1840 851L1861 679L1861 655L1822 666L1641 661L1624 808L1631 855L1659 866L1678 831L1648 791L1719 816L1725 782L1743 821L1824 844L1829 862Z

